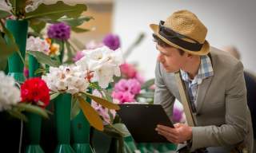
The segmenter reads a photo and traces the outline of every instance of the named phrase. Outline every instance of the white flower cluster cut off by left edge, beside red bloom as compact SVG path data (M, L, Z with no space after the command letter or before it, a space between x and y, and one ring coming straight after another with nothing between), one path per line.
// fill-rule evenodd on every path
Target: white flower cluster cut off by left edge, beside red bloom
M0 112L10 109L12 105L17 104L21 99L21 93L15 86L13 77L7 77L5 73L0 72Z

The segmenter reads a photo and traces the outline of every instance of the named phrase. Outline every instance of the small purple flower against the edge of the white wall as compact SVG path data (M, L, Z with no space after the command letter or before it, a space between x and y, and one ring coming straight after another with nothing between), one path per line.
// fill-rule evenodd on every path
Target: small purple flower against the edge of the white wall
M120 47L120 40L117 35L108 34L103 38L103 44L108 46L110 49L115 50Z

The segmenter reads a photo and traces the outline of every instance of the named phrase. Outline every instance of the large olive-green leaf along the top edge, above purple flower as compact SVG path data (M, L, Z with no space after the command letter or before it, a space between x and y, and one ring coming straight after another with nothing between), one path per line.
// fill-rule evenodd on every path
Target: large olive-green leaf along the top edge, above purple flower
M62 1L58 1L52 5L41 4L37 10L26 14L26 19L29 18L50 18L51 20L58 20L66 15L68 18L78 18L87 7L84 4L77 4L75 6L66 5Z

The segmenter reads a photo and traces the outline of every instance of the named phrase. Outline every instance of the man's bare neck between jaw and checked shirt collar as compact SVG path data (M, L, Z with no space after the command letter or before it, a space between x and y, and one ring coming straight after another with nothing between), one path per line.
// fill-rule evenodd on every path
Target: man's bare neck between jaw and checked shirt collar
M188 73L189 77L191 80L194 79L194 77L196 75L198 75L198 69L200 67L200 63L201 63L201 58L195 57L192 61L190 61L190 63L188 63L186 65L186 67L184 69L182 69L183 71L185 71L186 73Z

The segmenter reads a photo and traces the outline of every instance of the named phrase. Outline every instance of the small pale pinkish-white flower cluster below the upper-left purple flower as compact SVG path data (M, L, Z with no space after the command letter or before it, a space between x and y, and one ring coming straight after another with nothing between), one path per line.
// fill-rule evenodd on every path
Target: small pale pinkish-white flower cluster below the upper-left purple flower
M30 36L26 40L26 50L38 51L48 55L50 52L50 44L46 40L41 39L40 37Z

